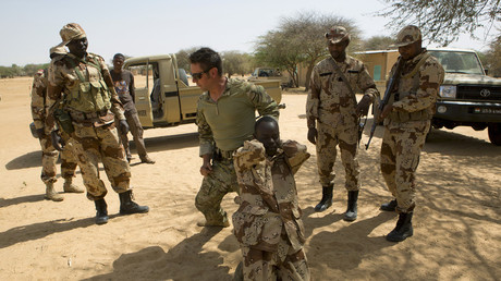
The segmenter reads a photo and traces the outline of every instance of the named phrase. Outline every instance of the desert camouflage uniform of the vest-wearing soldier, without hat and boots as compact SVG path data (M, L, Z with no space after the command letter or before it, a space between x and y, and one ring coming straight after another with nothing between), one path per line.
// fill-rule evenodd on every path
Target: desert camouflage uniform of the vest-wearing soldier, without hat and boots
M99 160L102 161L115 192L124 193L130 190L131 169L119 139L113 113L119 120L125 120L125 117L114 88L108 88L105 76L109 76L111 82L105 60L93 53L87 53L86 61L71 53L58 57L52 60L49 69L50 84L63 87L63 109L73 121L75 132L72 137L75 140L76 158L90 200L103 198L107 194L105 183L99 179ZM105 105L103 108L85 112L81 110L75 105L83 102L85 98L78 94L78 89L98 90L101 95L87 91L93 93L94 102L87 99L84 106L97 109L100 102ZM60 98L52 95L54 94L49 90L50 105ZM49 120L49 124L53 125L53 119Z

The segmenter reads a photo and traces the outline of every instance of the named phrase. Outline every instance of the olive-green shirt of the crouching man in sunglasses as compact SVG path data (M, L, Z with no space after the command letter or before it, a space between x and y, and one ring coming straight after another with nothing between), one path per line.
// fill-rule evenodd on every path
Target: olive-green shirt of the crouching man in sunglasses
M252 83L229 78L218 101L208 91L201 94L196 118L199 155L212 154L215 145L221 150L235 150L244 140L252 139L256 110L261 115L279 118L277 102L265 88Z

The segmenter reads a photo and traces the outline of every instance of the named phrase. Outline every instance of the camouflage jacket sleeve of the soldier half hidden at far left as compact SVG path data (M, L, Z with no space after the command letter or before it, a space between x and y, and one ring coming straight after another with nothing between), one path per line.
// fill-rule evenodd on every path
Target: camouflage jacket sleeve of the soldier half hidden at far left
M48 110L46 102L47 85L48 80L44 72L35 74L32 86L32 117L36 129L45 129L46 114Z

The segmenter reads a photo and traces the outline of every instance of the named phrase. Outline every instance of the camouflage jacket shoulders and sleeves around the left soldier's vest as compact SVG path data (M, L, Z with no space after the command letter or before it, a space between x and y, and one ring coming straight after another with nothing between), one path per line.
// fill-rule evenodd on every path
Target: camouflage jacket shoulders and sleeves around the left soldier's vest
M73 66L75 65L75 66ZM98 68L96 68L98 65ZM63 96L71 96L70 93L75 87L80 86L81 78L76 69L80 70L82 76L88 82L98 82L103 80L109 88L111 112L119 120L125 120L122 103L114 90L112 78L105 60L97 54L87 53L86 60L81 60L75 56L68 53L65 56L58 56L50 62L49 66L49 83L48 90L48 106L51 107L54 102L60 100ZM54 91L56 88L62 88L61 91ZM48 119L47 125L53 126L53 119Z

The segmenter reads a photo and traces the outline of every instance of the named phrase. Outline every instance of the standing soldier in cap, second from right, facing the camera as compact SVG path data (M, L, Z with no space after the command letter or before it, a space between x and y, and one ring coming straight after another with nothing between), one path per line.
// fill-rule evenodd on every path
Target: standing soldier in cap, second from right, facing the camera
M366 115L370 103L379 97L376 84L359 60L346 54L350 34L333 26L326 34L330 57L315 65L311 91L306 101L308 140L317 146L317 164L322 185L322 198L315 207L323 211L332 205L337 147L346 172L347 209L344 220L357 218L359 167L356 159L359 117ZM364 97L357 103L357 93Z

